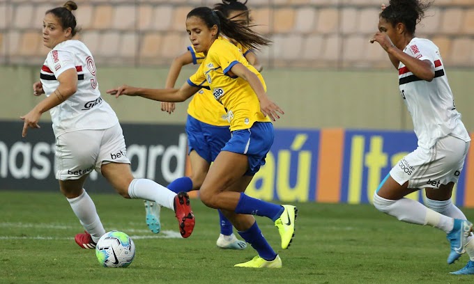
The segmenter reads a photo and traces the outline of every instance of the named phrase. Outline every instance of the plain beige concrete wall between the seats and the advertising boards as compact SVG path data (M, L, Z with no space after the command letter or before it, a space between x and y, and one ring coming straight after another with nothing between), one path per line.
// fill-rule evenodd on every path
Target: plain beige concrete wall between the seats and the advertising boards
M195 68L183 69L181 86ZM139 97L116 100L105 94L119 84L162 87L167 69L100 68L98 81L102 97L120 120L126 123L185 123L187 103L179 104L171 116L160 111L160 103ZM41 98L34 97L31 85L38 80L39 68L0 67L0 120L17 120ZM395 70L264 70L268 94L285 111L276 127L361 129L412 129L411 118L399 95ZM448 78L457 109L468 130L474 130L474 70L450 70ZM45 114L43 120L49 120Z

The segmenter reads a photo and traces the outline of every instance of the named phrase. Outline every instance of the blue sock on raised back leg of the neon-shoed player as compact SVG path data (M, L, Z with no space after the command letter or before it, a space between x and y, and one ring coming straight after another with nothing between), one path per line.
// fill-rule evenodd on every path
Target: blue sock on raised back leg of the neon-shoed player
M257 216L266 216L274 222L280 218L284 208L282 205L269 203L257 198L252 198L240 193L236 210L237 214L252 214Z

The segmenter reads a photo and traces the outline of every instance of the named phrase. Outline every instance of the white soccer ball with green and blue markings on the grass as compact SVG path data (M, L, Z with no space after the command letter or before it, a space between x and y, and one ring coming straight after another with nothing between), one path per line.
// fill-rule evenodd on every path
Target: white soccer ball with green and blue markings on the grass
M135 244L125 232L106 232L95 246L95 255L105 267L128 267L135 257Z

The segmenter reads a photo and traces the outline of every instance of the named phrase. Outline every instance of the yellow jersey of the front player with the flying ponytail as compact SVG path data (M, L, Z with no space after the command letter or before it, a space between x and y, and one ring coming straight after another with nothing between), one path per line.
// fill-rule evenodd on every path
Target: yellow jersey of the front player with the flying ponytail
M248 129L255 122L271 122L261 113L259 99L250 84L242 78L229 76L229 70L237 63L254 72L266 90L263 77L247 62L242 51L221 36L213 42L197 72L188 79L191 86L208 84L214 99L227 110L231 131Z

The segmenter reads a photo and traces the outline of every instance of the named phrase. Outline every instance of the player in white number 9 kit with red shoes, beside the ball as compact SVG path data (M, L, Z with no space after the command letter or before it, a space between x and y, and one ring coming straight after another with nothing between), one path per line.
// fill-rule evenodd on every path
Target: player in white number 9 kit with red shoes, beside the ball
M75 241L82 248L95 248L105 229L93 200L83 189L92 170L102 173L124 198L152 200L176 212L183 237L194 228L188 194L176 194L153 180L136 179L130 170L125 139L115 112L102 100L95 77L94 59L84 43L72 40L77 5L48 10L43 19L43 44L52 49L41 68L40 82L33 84L34 95L45 93L25 116L22 136L29 127L39 128L45 111L52 117L56 136L56 178L72 211L86 230Z

